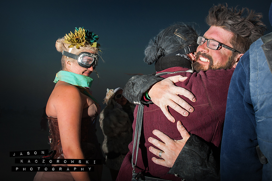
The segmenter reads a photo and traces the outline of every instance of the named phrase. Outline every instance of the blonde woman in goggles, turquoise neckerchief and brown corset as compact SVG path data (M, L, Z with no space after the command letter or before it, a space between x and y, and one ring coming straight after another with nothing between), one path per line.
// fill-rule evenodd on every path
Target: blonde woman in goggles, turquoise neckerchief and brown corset
M96 118L100 112L98 101L89 89L90 74L98 62L98 36L82 28L56 41L62 70L56 75L56 86L46 106L49 126L50 159L105 159L96 137ZM52 166L87 166L58 164ZM37 172L36 180L101 180L102 165L90 165L91 172Z

